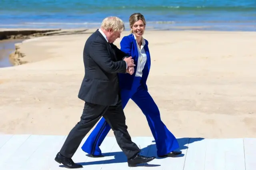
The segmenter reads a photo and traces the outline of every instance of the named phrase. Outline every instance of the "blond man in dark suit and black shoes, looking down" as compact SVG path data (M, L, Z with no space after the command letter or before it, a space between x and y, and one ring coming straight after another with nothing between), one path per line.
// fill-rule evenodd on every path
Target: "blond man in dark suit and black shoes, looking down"
M78 93L78 98L85 101L80 122L70 131L56 162L66 168L82 168L72 156L82 139L103 116L116 137L119 147L128 158L128 166L146 163L155 157L140 156L140 149L132 142L127 131L122 109L117 73L133 73L132 57L126 57L113 42L120 38L124 23L117 17L108 17L102 21L99 30L94 32L84 45L85 75Z

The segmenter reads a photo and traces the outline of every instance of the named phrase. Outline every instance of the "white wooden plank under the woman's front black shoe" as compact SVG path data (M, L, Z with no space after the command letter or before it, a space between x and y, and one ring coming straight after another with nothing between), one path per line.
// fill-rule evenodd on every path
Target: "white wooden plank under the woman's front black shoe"
M177 138L177 140L180 145L180 150L182 151L182 155L180 155L179 157L176 157L176 158L172 158L172 157L159 158L159 157L157 157L151 163L151 164L155 165L154 170L169 170L170 167L171 167L171 169L174 169L174 170L183 170L189 138ZM150 148L149 154L156 155L156 145L155 144L152 145L152 147ZM157 165L160 165L160 166L157 166ZM144 170L146 170L146 168L147 167L145 167Z

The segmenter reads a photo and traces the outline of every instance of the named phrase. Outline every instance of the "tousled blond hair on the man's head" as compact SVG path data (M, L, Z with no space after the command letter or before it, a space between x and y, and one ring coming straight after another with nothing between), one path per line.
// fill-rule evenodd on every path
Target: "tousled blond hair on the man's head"
M106 31L111 29L114 32L122 32L125 29L124 22L116 16L104 18L100 27Z

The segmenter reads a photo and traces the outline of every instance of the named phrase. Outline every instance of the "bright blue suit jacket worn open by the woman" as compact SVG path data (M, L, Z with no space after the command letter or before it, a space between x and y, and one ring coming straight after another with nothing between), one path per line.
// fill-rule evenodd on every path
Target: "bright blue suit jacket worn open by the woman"
M144 66L144 69L142 70L142 85L145 87L146 90L148 90L148 87L146 85L146 81L148 79L148 74L150 70L150 53L148 49L148 41L145 39L145 46L144 49L146 51L147 55L147 61ZM128 56L132 56L132 59L134 59L134 64L136 65L134 67L134 70L137 70L137 64L138 64L138 48L136 44L136 40L134 39L134 35L130 34L128 36L124 36L123 39L120 42L121 50L126 53ZM132 88L132 83L135 77L135 71L132 75L128 73L118 73L119 78L119 86L120 89L126 89L130 90Z

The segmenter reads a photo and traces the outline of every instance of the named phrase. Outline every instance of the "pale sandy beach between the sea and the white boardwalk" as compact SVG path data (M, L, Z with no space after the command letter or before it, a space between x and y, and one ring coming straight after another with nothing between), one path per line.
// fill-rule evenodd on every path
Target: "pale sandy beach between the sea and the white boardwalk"
M84 105L82 51L93 31L18 44L28 63L0 68L0 133L68 134ZM256 32L155 30L144 38L149 93L175 136L256 137ZM152 136L133 101L124 112L131 136Z

